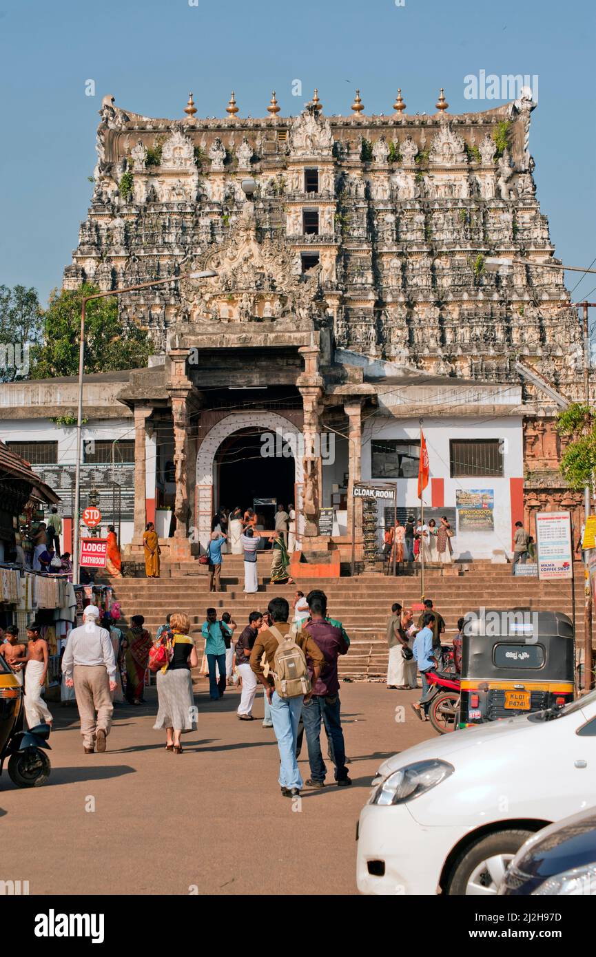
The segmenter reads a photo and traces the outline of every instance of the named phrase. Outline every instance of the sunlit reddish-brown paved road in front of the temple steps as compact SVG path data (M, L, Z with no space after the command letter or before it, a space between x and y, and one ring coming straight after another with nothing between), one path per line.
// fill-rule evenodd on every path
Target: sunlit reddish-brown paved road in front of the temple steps
M105 754L83 754L77 713L55 705L47 785L16 789L6 769L0 778L0 879L29 880L31 894L355 894L355 823L371 778L386 756L435 734L410 710L418 696L343 683L354 785L305 790L299 810L281 796L272 729L238 721L234 690L214 703L199 684L198 730L179 756L152 729L152 689L146 705L117 707ZM261 693L254 713L263 718ZM301 770L306 780L306 741Z

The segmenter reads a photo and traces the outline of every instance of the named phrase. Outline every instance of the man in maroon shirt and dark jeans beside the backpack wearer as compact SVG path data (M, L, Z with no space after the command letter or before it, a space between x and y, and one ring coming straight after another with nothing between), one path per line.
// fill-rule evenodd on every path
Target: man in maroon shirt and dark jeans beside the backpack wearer
M346 768L346 748L339 717L339 679L337 677L337 657L346 655L349 643L341 628L327 619L327 597L324 592L309 594L310 618L303 625L314 643L325 657L325 665L319 678L313 683L312 695L302 706L302 720L307 732L309 747L310 778L307 785L311 788L324 788L327 768L321 753L321 722L325 724L327 737L331 744L335 781L338 787L351 785Z

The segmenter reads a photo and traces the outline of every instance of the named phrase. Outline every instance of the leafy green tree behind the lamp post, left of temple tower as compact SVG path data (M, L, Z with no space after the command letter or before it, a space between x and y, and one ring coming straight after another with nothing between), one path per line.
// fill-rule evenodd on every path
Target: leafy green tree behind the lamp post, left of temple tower
M32 350L34 379L79 372L80 304L99 292L85 283L79 289L55 291L44 316L43 345ZM124 326L116 296L91 300L85 308L85 372L113 372L147 365L152 344L145 329Z

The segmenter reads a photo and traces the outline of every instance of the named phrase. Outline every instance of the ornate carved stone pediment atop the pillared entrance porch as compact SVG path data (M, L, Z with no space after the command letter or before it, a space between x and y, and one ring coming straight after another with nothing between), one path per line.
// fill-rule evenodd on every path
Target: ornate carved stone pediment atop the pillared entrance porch
M249 322L294 316L313 319L320 267L302 275L291 246L281 239L259 242L252 210L230 230L216 249L195 258L192 272L216 270L218 275L197 285L182 283L192 322Z

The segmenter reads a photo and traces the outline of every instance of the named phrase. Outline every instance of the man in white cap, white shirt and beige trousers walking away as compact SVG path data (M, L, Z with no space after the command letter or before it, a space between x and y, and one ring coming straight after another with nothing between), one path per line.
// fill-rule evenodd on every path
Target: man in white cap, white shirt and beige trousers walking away
M68 635L62 657L66 687L74 685L77 696L85 754L105 750L114 712L110 692L116 688L116 659L109 632L98 626L99 617L99 608L87 605L82 625Z

